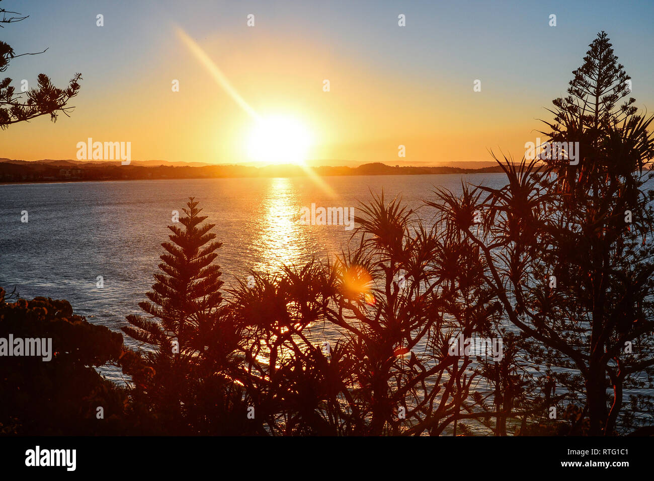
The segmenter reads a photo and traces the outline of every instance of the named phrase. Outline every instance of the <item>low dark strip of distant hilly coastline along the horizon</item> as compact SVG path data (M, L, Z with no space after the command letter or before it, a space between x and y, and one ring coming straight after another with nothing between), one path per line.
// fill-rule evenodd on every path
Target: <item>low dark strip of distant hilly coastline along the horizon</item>
M250 166L122 166L116 162L71 162L69 160L0 162L0 185L88 181L130 181L154 179L225 179L251 177L305 177L306 169L320 177L345 175L430 175L502 172L500 166L478 169L458 167L388 166L381 162L358 167L308 167L279 165Z

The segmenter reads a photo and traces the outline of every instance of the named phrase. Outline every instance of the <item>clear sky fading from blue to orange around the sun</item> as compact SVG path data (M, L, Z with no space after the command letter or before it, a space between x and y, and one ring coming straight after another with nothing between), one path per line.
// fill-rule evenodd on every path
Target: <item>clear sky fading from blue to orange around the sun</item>
M92 137L130 141L132 160L251 163L252 115L184 32L252 111L305 125L317 164L489 161L489 149L519 158L600 30L632 77L636 106L654 109L654 3L585 4L5 0L29 18L5 25L0 39L16 54L48 51L12 60L3 76L17 88L42 72L58 86L75 72L83 80L71 118L9 126L0 157L75 158L77 143Z

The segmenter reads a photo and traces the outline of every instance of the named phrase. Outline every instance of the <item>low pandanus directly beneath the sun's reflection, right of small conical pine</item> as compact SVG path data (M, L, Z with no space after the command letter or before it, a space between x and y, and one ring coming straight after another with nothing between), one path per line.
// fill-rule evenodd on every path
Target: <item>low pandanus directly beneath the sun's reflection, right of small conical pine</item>
M256 433L362 434L348 407L352 361L338 343L315 338L334 283L325 273L314 260L278 274L253 272L229 289L230 317L246 339L235 379L252 402Z

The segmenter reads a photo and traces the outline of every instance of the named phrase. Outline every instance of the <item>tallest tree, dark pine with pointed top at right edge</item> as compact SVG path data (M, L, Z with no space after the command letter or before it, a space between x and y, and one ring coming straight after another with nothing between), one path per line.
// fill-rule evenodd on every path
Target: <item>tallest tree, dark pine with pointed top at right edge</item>
M636 377L654 365L654 215L651 191L644 189L651 176L643 170L654 158L648 132L653 117L637 115L632 97L617 107L630 94L630 77L604 31L590 47L569 96L553 102L555 123L546 122L552 142L579 142L579 165L545 160L543 175L555 180L542 187L564 205L557 222L568 232L555 232L549 259L563 271L566 304L583 306L577 308L577 335L568 343L585 380L589 433L609 435L623 404L623 384L644 387Z

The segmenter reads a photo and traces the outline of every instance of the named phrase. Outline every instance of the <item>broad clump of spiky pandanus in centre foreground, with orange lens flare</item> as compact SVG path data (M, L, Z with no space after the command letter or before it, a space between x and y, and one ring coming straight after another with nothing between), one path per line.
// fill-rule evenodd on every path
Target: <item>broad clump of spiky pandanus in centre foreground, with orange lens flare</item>
M383 194L361 211L341 255L231 291L230 311L251 334L240 380L261 429L439 435L496 416L472 397L473 357L449 353L455 332L490 332L498 319L477 249ZM322 331L339 334L326 344Z

